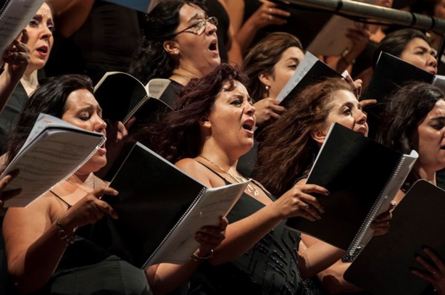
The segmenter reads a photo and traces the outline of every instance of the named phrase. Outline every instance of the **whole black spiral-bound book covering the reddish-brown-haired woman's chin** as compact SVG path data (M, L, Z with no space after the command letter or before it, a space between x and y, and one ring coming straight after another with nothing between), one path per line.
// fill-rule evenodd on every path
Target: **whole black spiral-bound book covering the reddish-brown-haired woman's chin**
M372 238L371 222L388 210L418 154L402 154L338 123L331 125L307 183L325 187L317 195L322 218L288 219L287 225L350 254Z

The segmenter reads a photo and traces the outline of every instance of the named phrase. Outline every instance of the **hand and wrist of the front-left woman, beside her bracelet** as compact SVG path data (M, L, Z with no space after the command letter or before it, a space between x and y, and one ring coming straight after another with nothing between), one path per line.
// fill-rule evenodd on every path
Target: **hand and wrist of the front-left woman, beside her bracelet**
M74 229L78 227L96 223L105 214L117 219L118 214L116 211L114 211L107 202L101 200L105 194L117 196L118 191L111 187L102 187L93 190L60 217L60 222L64 228L70 232L71 230L74 231Z

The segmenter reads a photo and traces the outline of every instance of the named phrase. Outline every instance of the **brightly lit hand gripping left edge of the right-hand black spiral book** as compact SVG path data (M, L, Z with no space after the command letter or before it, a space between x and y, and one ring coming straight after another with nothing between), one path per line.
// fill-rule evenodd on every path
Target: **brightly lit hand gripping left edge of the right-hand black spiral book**
M315 221L324 213L323 206L310 194L328 196L329 192L322 186L316 184L296 184L289 191L279 197L274 203L279 206L282 218L300 216Z

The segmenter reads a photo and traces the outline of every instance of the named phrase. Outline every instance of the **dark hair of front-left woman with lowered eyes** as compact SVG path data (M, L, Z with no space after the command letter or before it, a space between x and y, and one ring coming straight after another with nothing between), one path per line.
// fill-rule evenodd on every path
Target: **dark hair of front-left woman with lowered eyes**
M48 78L25 101L19 114L17 126L8 134L9 163L25 143L40 113L61 118L66 111L69 94L78 89L93 93L91 79L84 75L63 75Z

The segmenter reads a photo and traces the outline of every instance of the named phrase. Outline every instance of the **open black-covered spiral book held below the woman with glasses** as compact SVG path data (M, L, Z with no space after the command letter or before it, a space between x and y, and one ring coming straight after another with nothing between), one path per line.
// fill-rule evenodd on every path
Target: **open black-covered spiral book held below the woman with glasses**
M126 123L132 116L148 121L171 108L158 99L169 79L152 79L146 85L125 72L106 72L94 87L94 97L102 107L103 118Z

